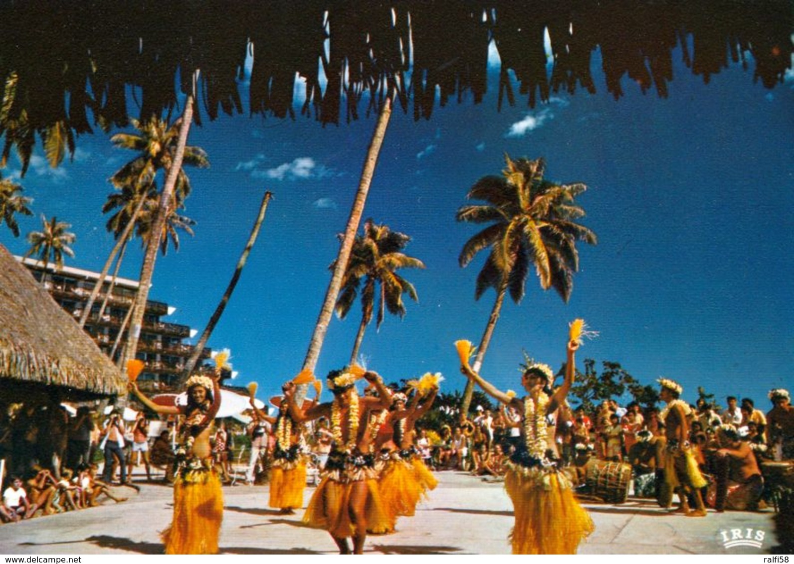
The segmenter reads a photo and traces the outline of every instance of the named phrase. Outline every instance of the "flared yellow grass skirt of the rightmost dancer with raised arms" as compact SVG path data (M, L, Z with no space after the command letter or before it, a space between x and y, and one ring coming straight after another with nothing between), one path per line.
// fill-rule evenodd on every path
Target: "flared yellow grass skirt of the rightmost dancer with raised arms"
M575 554L595 530L561 474L514 466L505 475L504 487L515 511L513 554Z

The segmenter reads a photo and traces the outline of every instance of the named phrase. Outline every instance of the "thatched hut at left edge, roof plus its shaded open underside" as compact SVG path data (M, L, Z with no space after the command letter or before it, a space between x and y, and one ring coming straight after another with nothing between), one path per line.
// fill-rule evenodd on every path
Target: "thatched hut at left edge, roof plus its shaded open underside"
M125 393L125 378L0 245L0 458L57 470L69 418L63 401Z

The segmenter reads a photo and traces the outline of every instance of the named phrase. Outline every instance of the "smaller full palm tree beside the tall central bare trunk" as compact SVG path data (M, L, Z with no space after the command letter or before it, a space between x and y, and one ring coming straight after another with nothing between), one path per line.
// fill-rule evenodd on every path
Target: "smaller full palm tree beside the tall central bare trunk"
M378 317L376 328L384 322L385 312L405 316L403 294L418 300L414 285L396 273L399 268L424 268L419 259L403 254L410 237L391 231L387 225L376 225L372 219L364 222L364 236L357 236L353 243L345 277L342 278L341 293L337 298L336 313L345 319L356 298L361 296L361 323L356 342L350 355L350 363L355 362L364 331L372 321L375 298L378 297ZM334 265L332 265L333 267ZM363 281L363 287L362 286Z

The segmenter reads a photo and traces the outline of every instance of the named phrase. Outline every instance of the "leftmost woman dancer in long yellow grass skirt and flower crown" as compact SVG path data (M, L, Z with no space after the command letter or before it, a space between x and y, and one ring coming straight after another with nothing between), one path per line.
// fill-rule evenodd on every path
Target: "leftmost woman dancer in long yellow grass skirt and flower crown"
M221 406L218 379L215 370L188 378L184 407L157 405L141 393L135 382L128 384L148 409L185 416L174 460L174 516L171 527L161 535L165 554L218 554L223 492L210 447L210 425Z

